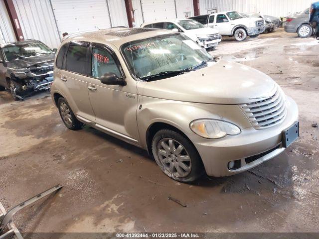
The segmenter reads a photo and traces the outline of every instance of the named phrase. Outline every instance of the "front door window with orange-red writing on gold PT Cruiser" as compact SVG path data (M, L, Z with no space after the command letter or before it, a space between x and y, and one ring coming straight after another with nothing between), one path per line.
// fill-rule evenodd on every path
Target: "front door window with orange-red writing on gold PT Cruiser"
M118 77L122 77L116 61L109 51L99 47L92 49L92 76L101 78L105 73L115 73Z

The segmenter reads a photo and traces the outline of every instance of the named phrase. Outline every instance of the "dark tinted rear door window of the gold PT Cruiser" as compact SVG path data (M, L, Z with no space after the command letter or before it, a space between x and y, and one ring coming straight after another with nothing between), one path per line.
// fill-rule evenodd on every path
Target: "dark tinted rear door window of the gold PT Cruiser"
M72 45L70 44L69 49L66 53L66 67L68 71L80 73L83 75L87 74L87 49L86 46Z

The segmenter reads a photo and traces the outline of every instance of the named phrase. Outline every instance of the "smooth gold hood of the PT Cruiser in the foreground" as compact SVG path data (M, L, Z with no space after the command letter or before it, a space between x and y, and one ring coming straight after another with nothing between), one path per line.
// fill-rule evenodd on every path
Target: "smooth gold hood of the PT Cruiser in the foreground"
M220 60L200 70L138 82L142 96L207 104L246 104L271 94L276 83L248 66Z

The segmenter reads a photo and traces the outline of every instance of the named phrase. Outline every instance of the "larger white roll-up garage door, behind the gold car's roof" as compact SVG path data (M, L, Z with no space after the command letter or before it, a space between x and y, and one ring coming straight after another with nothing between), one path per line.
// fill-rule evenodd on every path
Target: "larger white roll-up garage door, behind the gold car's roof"
M51 3L60 35L111 27L106 0L51 0Z

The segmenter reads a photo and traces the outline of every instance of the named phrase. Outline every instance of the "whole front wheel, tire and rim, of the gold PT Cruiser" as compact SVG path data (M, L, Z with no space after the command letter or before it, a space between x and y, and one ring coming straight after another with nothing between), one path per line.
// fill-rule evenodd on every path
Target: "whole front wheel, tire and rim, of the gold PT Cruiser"
M171 129L161 129L154 135L152 152L160 169L176 181L193 182L205 172L194 145Z

